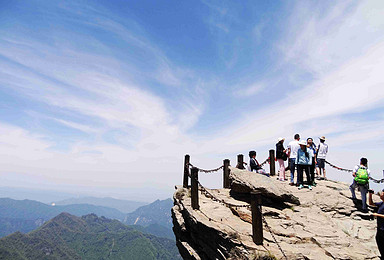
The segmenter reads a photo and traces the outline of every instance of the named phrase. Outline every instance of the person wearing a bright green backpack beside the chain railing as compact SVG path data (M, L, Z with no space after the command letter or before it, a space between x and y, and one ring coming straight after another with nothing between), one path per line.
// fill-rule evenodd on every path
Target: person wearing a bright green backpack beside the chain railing
M359 188L361 193L361 202L363 204L363 211L367 211L367 192L369 189L369 177L371 171L368 169L368 160L367 158L360 159L360 165L356 165L353 169L352 175L354 177L353 183L349 186L349 189L352 193L352 199L356 200L355 189Z

